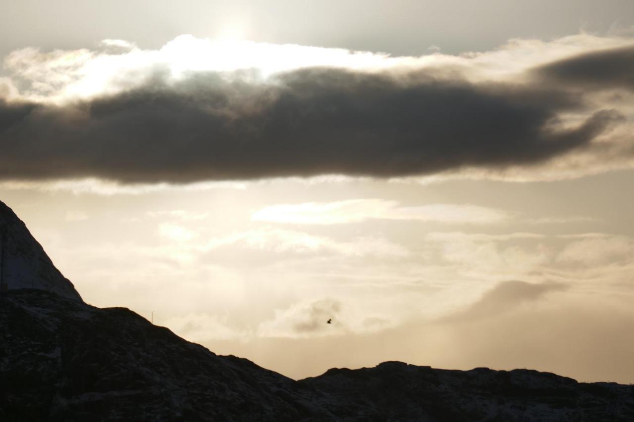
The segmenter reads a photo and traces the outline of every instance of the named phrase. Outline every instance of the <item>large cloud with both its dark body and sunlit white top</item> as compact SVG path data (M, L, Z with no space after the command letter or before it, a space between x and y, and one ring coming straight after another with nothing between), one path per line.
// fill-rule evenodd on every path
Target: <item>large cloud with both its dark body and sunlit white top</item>
M0 179L179 184L501 171L584 151L623 122L611 104L527 81L528 64L504 69L499 53L232 50L192 37L158 51L105 45L118 50L23 49L6 59L20 99L0 102ZM514 48L526 49L504 50Z

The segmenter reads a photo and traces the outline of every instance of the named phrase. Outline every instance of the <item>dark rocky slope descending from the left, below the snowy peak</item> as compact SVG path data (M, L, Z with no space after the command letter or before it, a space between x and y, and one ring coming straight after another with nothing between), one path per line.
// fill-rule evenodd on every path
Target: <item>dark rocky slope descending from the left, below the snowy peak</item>
M2 421L298 420L311 413L295 381L219 357L128 309L10 291L0 302L0 327Z

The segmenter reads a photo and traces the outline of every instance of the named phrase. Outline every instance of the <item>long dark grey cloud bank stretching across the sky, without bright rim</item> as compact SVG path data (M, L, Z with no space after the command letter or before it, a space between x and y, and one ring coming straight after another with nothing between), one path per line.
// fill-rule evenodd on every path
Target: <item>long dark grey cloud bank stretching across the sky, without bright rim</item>
M586 110L571 87L631 87L630 61L631 48L586 54L514 86L313 68L275 84L207 73L174 85L159 75L67 106L0 100L0 178L392 177L534 163L583 148L618 119ZM559 113L580 110L591 117L557 129Z

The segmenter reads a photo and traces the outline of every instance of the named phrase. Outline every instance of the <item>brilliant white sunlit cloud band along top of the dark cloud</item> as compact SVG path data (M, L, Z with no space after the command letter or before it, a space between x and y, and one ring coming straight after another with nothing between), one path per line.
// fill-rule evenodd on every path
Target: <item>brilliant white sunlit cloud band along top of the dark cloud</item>
M145 84L157 73L176 82L191 72L226 72L225 77L247 77L266 82L278 72L306 67L337 67L356 71L394 72L425 68L434 74L450 69L470 80L508 80L528 68L585 51L614 48L631 42L623 37L578 34L540 41L514 39L484 53L460 56L427 54L393 57L385 53L320 48L295 44L267 44L237 39L198 39L180 35L156 50L131 42L107 39L101 49L42 52L23 48L10 53L4 67L20 96L36 101L67 101L114 94ZM232 75L231 72L242 72ZM444 77L446 72L436 72Z

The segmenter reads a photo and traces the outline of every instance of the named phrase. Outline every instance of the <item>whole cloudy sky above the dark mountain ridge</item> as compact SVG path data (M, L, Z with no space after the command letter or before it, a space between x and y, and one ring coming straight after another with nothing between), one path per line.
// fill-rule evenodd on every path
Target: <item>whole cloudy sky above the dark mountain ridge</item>
M0 23L0 200L89 304L298 379L634 382L631 1L23 1Z

